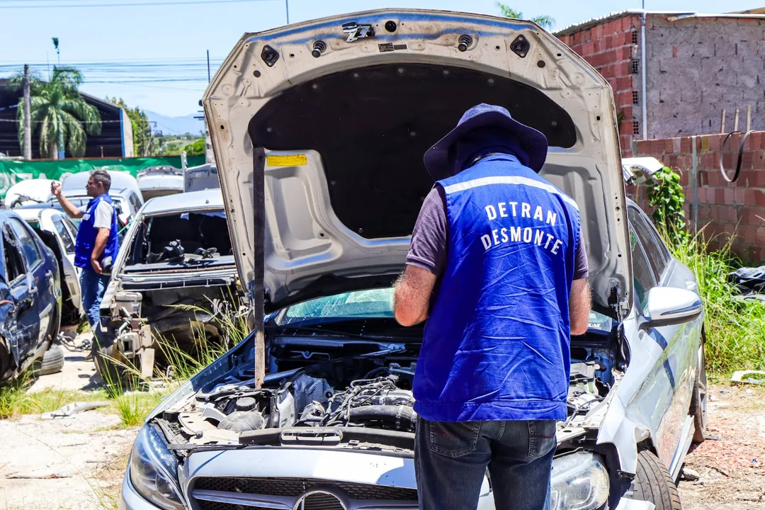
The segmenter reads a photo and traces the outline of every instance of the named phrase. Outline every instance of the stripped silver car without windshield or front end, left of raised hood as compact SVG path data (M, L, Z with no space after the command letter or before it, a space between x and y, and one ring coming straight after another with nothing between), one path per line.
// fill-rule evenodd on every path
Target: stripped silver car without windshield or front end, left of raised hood
M146 376L159 339L193 353L198 337L220 340L217 314L238 300L220 189L148 200L133 220L101 302L96 356L129 360Z

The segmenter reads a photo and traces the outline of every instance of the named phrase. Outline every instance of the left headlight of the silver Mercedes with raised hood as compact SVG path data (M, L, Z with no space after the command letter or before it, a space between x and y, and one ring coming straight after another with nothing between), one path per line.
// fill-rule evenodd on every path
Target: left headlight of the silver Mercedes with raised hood
M166 510L183 510L177 482L178 461L155 425L138 432L130 455L130 481L147 501Z

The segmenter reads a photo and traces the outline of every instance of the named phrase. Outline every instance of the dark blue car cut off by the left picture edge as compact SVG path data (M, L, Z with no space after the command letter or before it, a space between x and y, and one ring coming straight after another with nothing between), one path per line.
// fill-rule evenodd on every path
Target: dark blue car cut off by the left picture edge
M61 286L54 252L18 214L0 211L0 380L58 372Z

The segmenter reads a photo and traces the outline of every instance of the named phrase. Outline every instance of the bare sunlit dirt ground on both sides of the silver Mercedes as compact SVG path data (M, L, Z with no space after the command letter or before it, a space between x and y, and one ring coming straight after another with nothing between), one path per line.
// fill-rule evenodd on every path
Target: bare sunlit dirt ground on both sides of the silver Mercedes
M93 362L67 352L63 372L38 379L30 391L99 384ZM765 510L765 388L712 386L710 395L709 439L685 461L699 479L679 484L683 508ZM137 433L103 410L0 421L0 510L117 508Z

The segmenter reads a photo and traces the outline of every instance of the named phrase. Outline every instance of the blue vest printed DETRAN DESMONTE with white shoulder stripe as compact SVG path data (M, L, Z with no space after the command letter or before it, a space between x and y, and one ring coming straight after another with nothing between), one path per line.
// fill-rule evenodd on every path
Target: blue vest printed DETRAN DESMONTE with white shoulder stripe
M438 181L448 261L415 372L430 421L564 420L574 200L507 154Z

